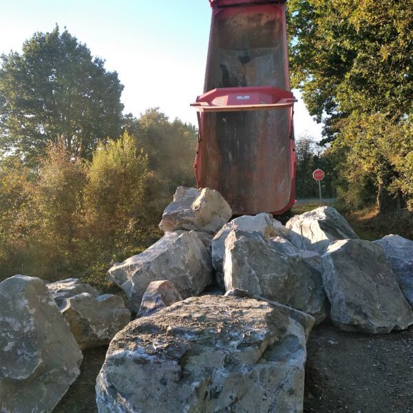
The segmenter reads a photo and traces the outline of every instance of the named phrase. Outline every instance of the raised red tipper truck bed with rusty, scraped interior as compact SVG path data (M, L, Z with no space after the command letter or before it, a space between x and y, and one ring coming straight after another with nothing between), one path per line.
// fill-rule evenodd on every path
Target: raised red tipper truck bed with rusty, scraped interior
M285 1L209 0L213 8L198 110L198 187L234 215L282 214L295 201L293 104Z

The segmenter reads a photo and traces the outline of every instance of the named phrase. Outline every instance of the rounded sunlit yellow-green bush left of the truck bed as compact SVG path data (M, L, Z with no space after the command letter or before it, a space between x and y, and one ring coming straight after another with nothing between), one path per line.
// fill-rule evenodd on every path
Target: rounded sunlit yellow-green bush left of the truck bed
M100 249L121 248L147 227L148 160L127 132L93 153L85 187L86 226Z

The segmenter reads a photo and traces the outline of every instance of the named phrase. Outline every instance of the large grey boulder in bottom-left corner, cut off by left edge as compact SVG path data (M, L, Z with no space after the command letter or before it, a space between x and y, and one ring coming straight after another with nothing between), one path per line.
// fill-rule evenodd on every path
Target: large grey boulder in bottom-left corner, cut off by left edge
M41 279L15 275L0 283L0 412L50 412L82 360Z

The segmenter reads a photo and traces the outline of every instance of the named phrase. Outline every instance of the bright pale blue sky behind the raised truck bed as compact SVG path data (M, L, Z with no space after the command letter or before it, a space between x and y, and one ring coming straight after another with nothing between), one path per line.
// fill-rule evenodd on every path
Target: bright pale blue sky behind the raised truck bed
M0 0L0 53L57 23L118 72L125 113L160 107L196 124L189 103L203 92L210 19L208 0ZM295 131L321 136L301 99Z

